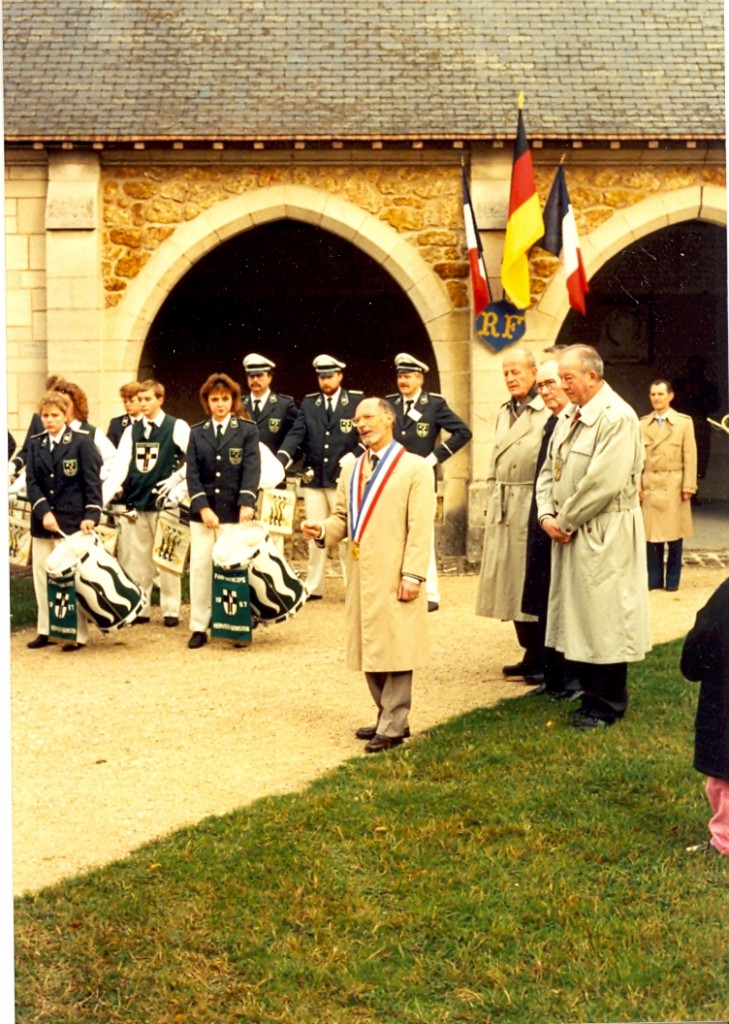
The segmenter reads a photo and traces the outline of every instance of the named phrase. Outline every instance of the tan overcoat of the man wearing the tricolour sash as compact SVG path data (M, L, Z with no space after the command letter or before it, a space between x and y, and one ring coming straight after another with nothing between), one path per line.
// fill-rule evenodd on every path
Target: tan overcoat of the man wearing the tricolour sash
M354 463L342 470L335 510L325 519L327 547L336 547L350 536L353 471ZM433 471L421 456L405 452L375 506L358 559L352 558L352 546L347 545L345 625L350 669L409 672L427 664L425 586L414 601L398 601L397 587L403 572L425 580L434 518Z

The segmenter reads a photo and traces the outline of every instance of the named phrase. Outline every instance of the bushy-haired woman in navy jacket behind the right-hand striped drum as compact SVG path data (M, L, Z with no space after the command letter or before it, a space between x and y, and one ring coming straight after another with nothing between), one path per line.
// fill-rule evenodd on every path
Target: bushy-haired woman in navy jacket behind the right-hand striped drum
M241 385L212 374L200 389L208 419L192 427L187 446L190 507L187 646L208 641L213 603L213 546L232 523L253 519L261 459L258 430L241 404Z

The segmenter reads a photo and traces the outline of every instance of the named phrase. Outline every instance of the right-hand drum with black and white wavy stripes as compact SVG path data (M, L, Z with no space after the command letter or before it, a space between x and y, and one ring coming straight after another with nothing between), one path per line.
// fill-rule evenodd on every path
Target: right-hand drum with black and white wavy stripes
M259 522L238 523L221 534L213 562L224 569L248 566L251 611L257 623L293 618L306 602L306 588Z

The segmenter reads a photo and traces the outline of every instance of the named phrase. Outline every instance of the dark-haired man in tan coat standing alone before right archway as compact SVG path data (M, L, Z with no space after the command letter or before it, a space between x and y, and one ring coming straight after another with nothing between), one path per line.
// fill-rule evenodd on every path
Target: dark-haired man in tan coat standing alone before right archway
M640 421L645 446L640 500L648 544L649 590L679 589L683 539L693 537L691 497L696 494L696 438L691 417L673 410L673 400L669 381L653 381L653 412Z

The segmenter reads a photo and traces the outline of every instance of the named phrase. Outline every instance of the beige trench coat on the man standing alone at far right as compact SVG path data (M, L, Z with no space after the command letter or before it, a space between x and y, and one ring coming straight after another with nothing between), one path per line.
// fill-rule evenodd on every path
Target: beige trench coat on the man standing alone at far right
M693 421L670 409L660 426L655 413L640 421L645 447L643 521L645 539L656 544L693 537L691 502L681 492L696 493L696 438Z

